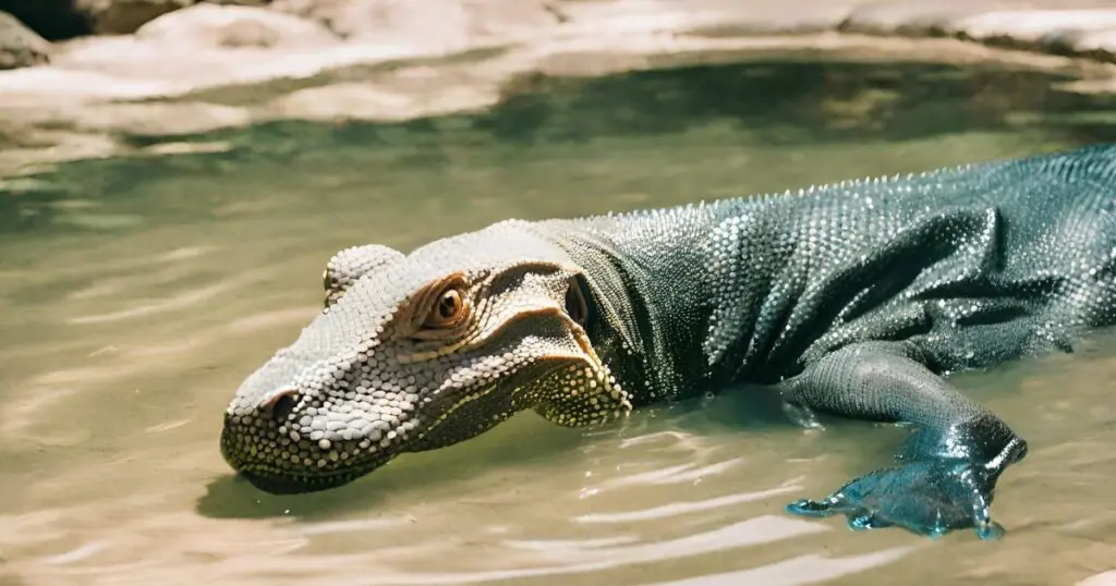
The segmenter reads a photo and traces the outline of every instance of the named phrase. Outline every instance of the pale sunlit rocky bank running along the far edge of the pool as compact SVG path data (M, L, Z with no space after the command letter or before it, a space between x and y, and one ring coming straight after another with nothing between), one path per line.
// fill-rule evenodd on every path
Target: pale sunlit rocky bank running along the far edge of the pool
M48 40L49 39L49 40ZM276 118L483 109L525 75L775 50L1009 61L1116 92L1116 0L0 0L0 174Z

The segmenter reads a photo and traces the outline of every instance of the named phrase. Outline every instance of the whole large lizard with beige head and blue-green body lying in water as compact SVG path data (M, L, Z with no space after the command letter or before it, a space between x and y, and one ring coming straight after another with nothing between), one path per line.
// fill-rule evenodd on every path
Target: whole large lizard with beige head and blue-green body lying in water
M448 203L449 204L449 203ZM907 424L802 516L937 536L1027 443L943 378L1072 352L1116 318L1116 145L338 252L326 308L237 392L221 450L310 492L533 410L559 425L734 383L788 413Z

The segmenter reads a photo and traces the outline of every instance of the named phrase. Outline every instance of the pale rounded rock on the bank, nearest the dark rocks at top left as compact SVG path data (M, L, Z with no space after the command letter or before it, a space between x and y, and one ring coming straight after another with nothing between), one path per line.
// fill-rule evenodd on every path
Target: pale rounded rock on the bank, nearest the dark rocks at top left
M144 41L208 47L308 47L339 41L328 28L296 16L247 6L194 4L136 31Z

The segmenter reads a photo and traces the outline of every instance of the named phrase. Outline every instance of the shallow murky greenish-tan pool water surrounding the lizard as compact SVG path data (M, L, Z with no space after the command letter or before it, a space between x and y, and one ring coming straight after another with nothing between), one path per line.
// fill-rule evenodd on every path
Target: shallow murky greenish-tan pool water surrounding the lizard
M782 515L899 434L743 395L562 430L522 414L341 489L272 497L218 452L240 381L320 307L338 248L1116 138L1110 98L1004 69L795 58L535 79L498 111L277 123L219 153L73 163L0 194L0 584L1074 584L1116 569L1116 352L958 384L1031 443L1008 538ZM138 138L136 138L140 141Z

